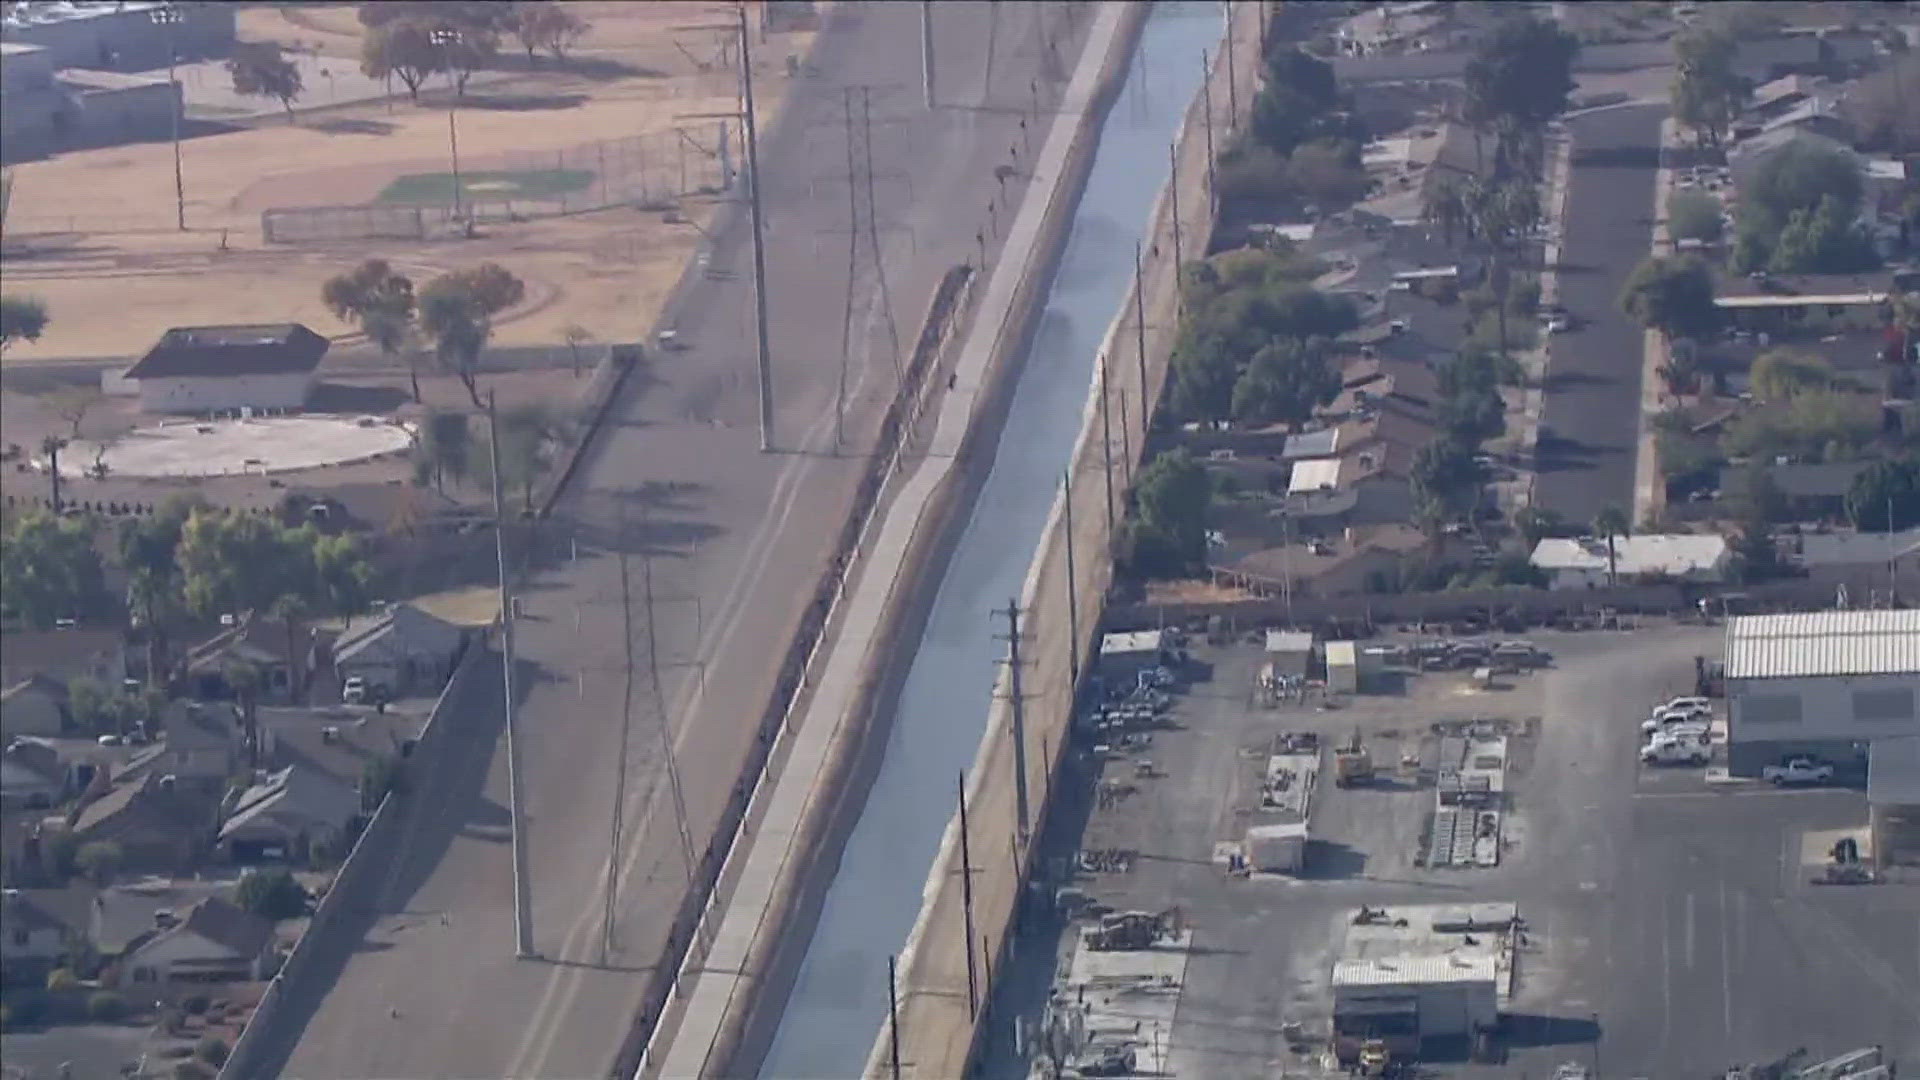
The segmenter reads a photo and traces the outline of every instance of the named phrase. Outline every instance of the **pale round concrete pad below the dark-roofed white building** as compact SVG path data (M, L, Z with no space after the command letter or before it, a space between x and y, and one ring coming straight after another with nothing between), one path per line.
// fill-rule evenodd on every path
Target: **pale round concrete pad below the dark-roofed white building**
M292 473L365 461L411 444L407 427L382 417L167 421L115 438L104 454L98 444L75 442L60 455L60 471L84 475L100 454L115 477Z

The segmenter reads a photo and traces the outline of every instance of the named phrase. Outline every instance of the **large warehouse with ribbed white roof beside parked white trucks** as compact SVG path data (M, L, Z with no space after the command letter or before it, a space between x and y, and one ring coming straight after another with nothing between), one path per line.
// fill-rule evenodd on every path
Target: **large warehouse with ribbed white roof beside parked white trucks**
M1728 769L1793 755L1862 774L1876 742L1920 734L1920 611L1805 611L1726 623Z

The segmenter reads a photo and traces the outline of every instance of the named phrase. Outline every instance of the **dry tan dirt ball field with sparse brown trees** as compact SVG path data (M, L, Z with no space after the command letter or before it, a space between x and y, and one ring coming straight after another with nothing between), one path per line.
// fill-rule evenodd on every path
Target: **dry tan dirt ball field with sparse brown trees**
M541 65L470 92L459 108L463 171L501 169L509 156L670 133L676 117L733 108L735 79L720 56L728 35L674 29L714 23L705 8L574 8L591 23L574 69ZM351 8L248 10L240 33L321 56L359 52ZM755 35L762 121L783 96L787 56L803 54L810 37ZM503 42L503 52L515 48L511 38ZM411 104L401 94L301 111L296 125L259 121L188 138L182 161L188 233L173 229L165 142L65 154L15 171L8 290L44 298L52 325L40 342L10 348L10 361L138 354L167 327L196 323L294 319L348 334L349 327L321 307L321 282L371 256L417 277L490 259L507 265L528 282L528 300L497 321L493 340L503 346L557 344L572 323L601 340L636 340L699 240L689 225L622 208L488 225L474 240L263 242L265 208L371 202L397 177L445 171L444 98ZM84 192L84 202L71 192ZM705 223L712 208L685 200L682 209ZM104 311L113 317L96 317Z

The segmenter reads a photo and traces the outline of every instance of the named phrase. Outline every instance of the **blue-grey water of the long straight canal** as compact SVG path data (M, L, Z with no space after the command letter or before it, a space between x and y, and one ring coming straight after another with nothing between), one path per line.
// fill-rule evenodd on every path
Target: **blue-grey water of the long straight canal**
M1079 434L1071 421L1087 404L1094 356L1129 296L1133 244L1167 179L1165 146L1198 90L1200 54L1219 35L1212 4L1158 8L1100 127L993 471L912 651L885 759L828 888L762 1076L858 1074L885 1022L877 974L914 926L952 817L945 792L973 759L991 713L1006 650L995 638L993 611L1020 594L1033 561Z

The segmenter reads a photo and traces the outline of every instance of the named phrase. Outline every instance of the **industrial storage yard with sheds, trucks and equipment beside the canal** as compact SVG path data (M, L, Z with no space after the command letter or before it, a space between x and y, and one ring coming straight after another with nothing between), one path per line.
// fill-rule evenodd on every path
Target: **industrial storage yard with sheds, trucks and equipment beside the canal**
M1217 619L1110 636L1085 815L1060 796L1056 876L1027 913L1058 953L1025 947L1008 988L1035 1074L1384 1057L1720 1076L1920 1053L1920 617L1645 619L1524 646ZM1791 723L1772 701L1801 694L1811 726L1828 684L1884 736L1772 734ZM1647 728L1693 730L1649 713L1695 692L1707 759L1644 761L1667 738ZM1793 757L1836 771L1799 784Z

